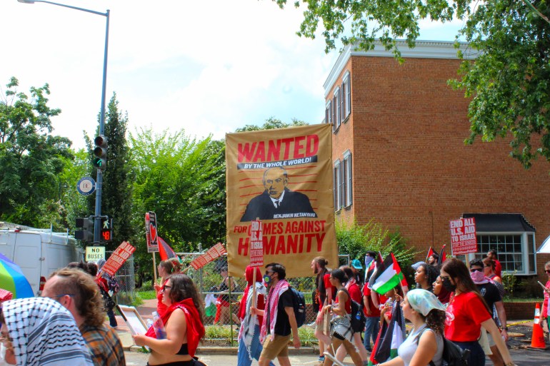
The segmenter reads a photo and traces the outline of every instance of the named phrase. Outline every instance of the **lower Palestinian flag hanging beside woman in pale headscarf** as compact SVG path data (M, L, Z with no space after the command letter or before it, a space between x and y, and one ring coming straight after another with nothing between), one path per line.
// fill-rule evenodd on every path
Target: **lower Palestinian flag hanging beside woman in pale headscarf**
M394 301L391 309L391 320L388 329L380 340L376 340L378 347L372 352L371 359L375 363L386 362L397 356L397 349L405 340L405 322L399 301ZM374 355L374 356L373 356Z

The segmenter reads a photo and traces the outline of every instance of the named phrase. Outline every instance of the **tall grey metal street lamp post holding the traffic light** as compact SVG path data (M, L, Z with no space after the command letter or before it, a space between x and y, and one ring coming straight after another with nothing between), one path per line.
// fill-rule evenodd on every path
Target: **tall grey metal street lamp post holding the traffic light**
M105 131L105 93L106 93L106 82L107 82L107 50L109 49L109 9L105 13L100 11L94 11L89 9L79 8L77 6L70 6L65 4L58 4L51 1L43 0L17 0L23 4L34 4L34 3L46 3L57 6L63 6L64 8L76 9L80 11L86 11L86 13L96 14L105 16L106 18L106 29L105 29L105 53L103 59L103 84L101 86L101 114L99 115L99 134L103 135ZM103 171L101 169L97 170L96 177L96 212L94 220L94 245L99 245L99 233L101 230L101 191L103 187Z

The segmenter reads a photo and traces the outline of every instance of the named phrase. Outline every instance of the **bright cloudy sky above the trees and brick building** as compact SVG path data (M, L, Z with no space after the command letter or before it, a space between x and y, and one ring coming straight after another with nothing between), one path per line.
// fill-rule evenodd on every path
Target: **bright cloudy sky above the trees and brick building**
M106 102L113 93L128 131L184 129L224 138L269 117L321 123L323 83L338 51L322 36L296 36L303 18L294 1L66 0L110 9ZM11 76L18 91L49 83L54 134L74 148L93 138L101 108L106 17L51 4L0 0L0 94ZM461 24L423 22L421 40L453 41Z

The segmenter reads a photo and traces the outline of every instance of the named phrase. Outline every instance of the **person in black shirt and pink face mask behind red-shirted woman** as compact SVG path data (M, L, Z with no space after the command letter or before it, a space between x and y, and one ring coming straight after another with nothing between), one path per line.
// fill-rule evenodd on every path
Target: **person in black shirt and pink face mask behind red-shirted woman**
M508 327L506 327L506 311L504 311L504 303L502 303L499 289L496 285L494 285L494 283L489 281L489 278L485 277L484 264L481 260L470 261L470 277L476 284L479 293L483 296L485 302L489 306L489 309L492 310L493 320L497 325L502 325L502 337L504 340L508 340ZM504 361L502 360L499 349L496 347L493 337L490 334L487 335L487 340L489 341L489 347L491 349L489 358L493 361L495 366L503 366Z

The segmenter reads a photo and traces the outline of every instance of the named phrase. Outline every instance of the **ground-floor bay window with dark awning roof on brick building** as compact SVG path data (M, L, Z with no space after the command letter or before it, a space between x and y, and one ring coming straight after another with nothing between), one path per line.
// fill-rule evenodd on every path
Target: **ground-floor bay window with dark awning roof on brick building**
M477 251L469 260L485 258L495 249L502 272L535 275L535 228L518 213L465 213L475 218Z

